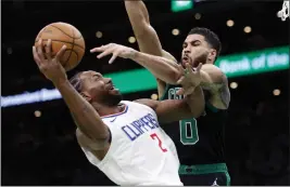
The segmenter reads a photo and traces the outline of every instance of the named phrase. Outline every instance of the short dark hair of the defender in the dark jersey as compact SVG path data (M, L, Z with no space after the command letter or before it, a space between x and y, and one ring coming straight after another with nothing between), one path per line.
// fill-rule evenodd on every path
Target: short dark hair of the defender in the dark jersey
M209 28L204 28L204 27L194 27L192 28L188 35L201 35L204 37L204 40L213 48L216 50L216 57L219 55L220 51L222 51L222 43L219 38L217 37L217 35L215 32L213 32L212 30L210 30Z

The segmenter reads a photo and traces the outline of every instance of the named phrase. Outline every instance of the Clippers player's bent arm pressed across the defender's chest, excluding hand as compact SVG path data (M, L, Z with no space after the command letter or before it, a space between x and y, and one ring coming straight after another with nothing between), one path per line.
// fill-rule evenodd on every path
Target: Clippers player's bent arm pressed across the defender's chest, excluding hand
M168 123L181 119L198 118L204 111L204 97L200 86L184 99L138 99L137 103L151 107L157 115L160 123Z

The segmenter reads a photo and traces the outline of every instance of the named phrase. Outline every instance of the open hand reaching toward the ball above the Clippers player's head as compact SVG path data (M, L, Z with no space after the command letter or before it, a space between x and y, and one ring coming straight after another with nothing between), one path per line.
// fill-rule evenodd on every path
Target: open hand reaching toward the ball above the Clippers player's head
M91 53L101 52L101 54L97 56L98 58L102 58L109 54L113 54L113 56L109 61L109 64L112 64L117 56L123 58L130 58L135 54L136 50L121 44L110 43L106 45L91 49L90 52Z

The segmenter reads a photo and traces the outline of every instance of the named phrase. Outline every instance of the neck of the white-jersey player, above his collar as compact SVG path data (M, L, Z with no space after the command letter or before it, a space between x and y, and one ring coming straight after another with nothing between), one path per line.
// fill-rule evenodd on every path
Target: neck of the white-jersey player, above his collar
M118 113L124 109L124 105L122 104L116 106L108 106L98 103L92 103L91 105L98 111L100 117Z

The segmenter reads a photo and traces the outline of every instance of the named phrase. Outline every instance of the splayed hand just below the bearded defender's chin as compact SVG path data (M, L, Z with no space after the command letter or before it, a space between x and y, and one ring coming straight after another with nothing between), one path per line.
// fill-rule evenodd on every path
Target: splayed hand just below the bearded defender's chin
M177 92L178 95L190 95L194 89L201 83L201 67L200 63L197 68L192 68L190 64L186 64L186 69L179 66L181 78L177 81L178 84L181 84L182 88Z

